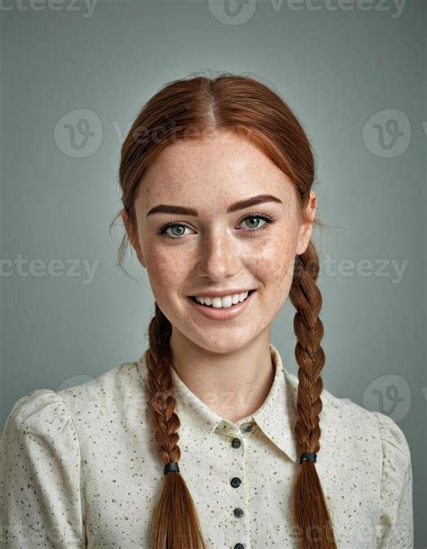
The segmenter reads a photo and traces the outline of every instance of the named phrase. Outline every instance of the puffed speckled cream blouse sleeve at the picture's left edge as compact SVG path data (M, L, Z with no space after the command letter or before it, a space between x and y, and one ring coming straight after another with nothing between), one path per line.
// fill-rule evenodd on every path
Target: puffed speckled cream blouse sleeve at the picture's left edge
M86 546L80 451L64 399L37 389L17 400L0 439L0 546Z

